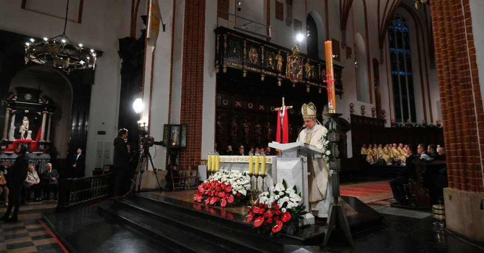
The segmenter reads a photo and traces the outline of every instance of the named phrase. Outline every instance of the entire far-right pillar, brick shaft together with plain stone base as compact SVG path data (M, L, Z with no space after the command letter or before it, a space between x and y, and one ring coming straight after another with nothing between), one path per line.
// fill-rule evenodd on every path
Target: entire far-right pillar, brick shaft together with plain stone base
M472 31L481 25L484 8L473 9L474 19L469 3L434 0L431 17L449 181L444 189L446 225L454 233L482 241L484 109L476 56L484 53L476 50Z

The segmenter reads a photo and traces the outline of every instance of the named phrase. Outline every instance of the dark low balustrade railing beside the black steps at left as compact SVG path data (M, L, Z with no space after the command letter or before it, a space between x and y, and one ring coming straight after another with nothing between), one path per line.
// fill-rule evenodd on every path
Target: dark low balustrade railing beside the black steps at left
M59 179L59 202L56 211L62 212L75 206L86 205L110 197L113 186L112 174Z

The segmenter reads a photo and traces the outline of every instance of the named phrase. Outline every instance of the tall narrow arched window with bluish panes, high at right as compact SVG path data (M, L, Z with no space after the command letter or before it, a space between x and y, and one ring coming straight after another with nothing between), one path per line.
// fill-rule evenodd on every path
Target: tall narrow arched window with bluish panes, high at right
M404 18L396 14L388 25L395 121L417 122L409 28Z

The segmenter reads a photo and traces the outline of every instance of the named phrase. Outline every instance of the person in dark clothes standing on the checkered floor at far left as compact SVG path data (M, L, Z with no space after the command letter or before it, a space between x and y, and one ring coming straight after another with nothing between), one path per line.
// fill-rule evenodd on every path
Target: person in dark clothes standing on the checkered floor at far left
M26 145L18 145L15 149L15 153L18 155L15 162L10 166L8 175L9 182L9 206L4 216L0 217L0 220L5 222L18 221L18 211L20 209L20 193L22 192L23 181L27 178L27 169L29 167L29 156L26 156L28 148ZM6 166L7 163L2 165ZM10 213L14 208L12 217L9 218Z

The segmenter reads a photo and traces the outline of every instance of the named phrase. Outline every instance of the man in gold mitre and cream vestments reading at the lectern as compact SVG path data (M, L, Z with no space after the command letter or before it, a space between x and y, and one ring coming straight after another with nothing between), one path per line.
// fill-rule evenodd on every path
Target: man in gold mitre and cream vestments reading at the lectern
M313 145L326 152L325 136L328 132L316 120L316 107L313 103L303 104L301 108L305 129L299 133L298 141ZM331 187L331 173L324 158L321 155L308 157L308 191L310 210L314 216L328 217L329 207L332 201L333 192Z

